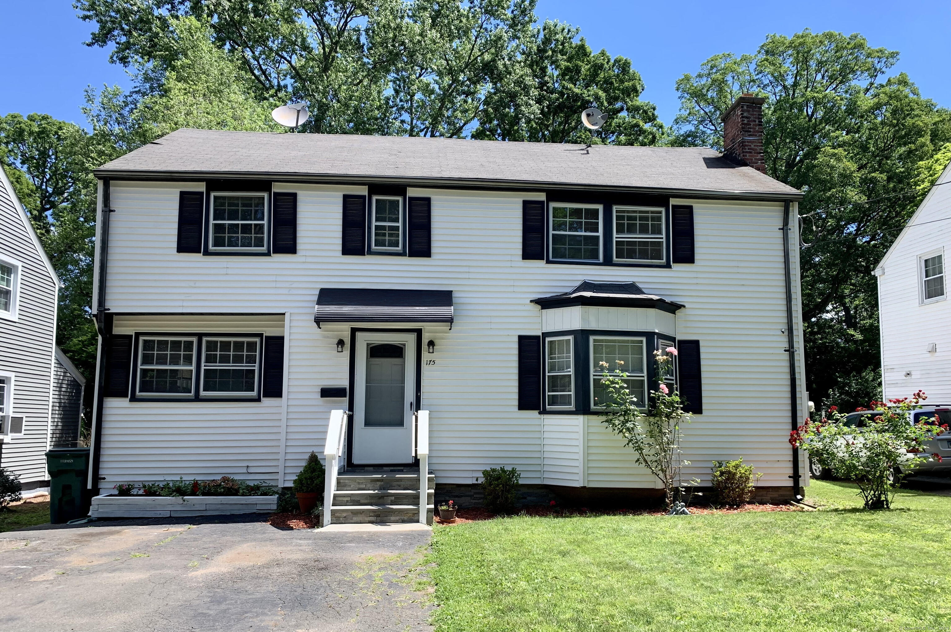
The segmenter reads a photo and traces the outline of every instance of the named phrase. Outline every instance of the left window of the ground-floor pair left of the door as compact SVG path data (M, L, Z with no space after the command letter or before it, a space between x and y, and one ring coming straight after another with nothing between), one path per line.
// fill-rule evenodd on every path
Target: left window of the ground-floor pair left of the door
M195 368L194 338L142 338L139 393L192 393Z

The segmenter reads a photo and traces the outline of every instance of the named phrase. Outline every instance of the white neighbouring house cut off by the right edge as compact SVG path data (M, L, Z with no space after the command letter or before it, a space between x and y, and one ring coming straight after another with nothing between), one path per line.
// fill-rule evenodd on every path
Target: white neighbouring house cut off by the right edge
M883 398L921 389L951 404L951 165L875 268L879 282Z

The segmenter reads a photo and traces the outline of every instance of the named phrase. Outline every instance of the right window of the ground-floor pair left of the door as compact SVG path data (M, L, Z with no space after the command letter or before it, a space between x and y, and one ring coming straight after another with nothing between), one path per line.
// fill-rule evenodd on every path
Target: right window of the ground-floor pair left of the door
M258 392L258 339L205 338L202 393Z

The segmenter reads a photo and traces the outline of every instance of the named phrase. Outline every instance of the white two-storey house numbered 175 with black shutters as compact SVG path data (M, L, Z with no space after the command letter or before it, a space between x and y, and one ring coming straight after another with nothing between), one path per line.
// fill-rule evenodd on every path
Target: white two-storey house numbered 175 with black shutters
M733 127L728 146L762 158ZM704 148L182 129L96 174L102 492L289 486L333 410L353 413L351 469L415 467L428 411L437 494L497 466L559 494L653 489L593 390L602 359L651 388L673 345L686 477L743 457L764 497L792 495L801 194L756 168Z

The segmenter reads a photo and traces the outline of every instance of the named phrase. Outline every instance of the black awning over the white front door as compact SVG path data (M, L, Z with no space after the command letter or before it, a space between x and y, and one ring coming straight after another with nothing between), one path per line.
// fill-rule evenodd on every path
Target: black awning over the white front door
M320 288L314 322L453 322L452 290Z

